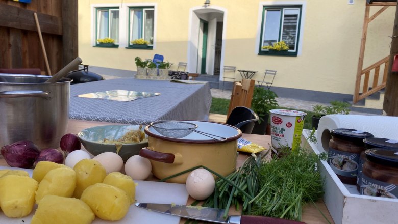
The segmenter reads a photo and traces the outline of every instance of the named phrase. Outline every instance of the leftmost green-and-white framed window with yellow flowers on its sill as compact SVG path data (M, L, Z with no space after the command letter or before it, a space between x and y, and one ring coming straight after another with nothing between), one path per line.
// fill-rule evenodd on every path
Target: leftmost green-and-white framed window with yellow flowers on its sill
M119 8L96 8L95 40L112 38L119 43ZM96 41L98 45L98 41Z

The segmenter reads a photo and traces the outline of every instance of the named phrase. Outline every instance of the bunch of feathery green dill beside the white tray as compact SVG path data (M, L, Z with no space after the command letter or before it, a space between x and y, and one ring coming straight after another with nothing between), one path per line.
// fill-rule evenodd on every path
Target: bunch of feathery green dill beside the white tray
M259 195L250 214L301 220L303 205L317 201L324 193L316 163L326 156L303 148L278 150L278 156L259 167Z

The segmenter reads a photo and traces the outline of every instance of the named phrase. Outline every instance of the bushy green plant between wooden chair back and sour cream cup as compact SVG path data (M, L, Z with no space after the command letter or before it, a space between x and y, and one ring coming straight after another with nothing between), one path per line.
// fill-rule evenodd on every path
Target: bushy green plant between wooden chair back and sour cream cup
M260 117L260 120L258 121L259 123L264 121L261 117L269 114L270 109L279 106L278 101L276 100L277 97L277 94L271 90L267 90L262 87L254 87L251 108Z

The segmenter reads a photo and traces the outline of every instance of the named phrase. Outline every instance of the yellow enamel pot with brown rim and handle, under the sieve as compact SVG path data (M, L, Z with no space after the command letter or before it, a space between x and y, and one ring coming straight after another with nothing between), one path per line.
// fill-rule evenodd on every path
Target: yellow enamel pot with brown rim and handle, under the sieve
M149 136L148 147L141 149L139 155L151 160L153 175L163 179L198 165L206 166L222 176L232 173L236 167L238 138L242 132L227 124L189 122L198 125L197 131L223 138L213 139L196 132L183 138L166 137L148 125L145 128L145 133ZM189 172L167 182L185 183L188 175Z

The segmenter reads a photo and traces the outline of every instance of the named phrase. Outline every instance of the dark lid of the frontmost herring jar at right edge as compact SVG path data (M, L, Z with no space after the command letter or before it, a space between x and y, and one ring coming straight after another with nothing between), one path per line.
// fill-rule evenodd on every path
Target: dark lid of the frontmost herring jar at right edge
M369 161L387 166L398 167L398 148L395 149L367 149L366 158Z

